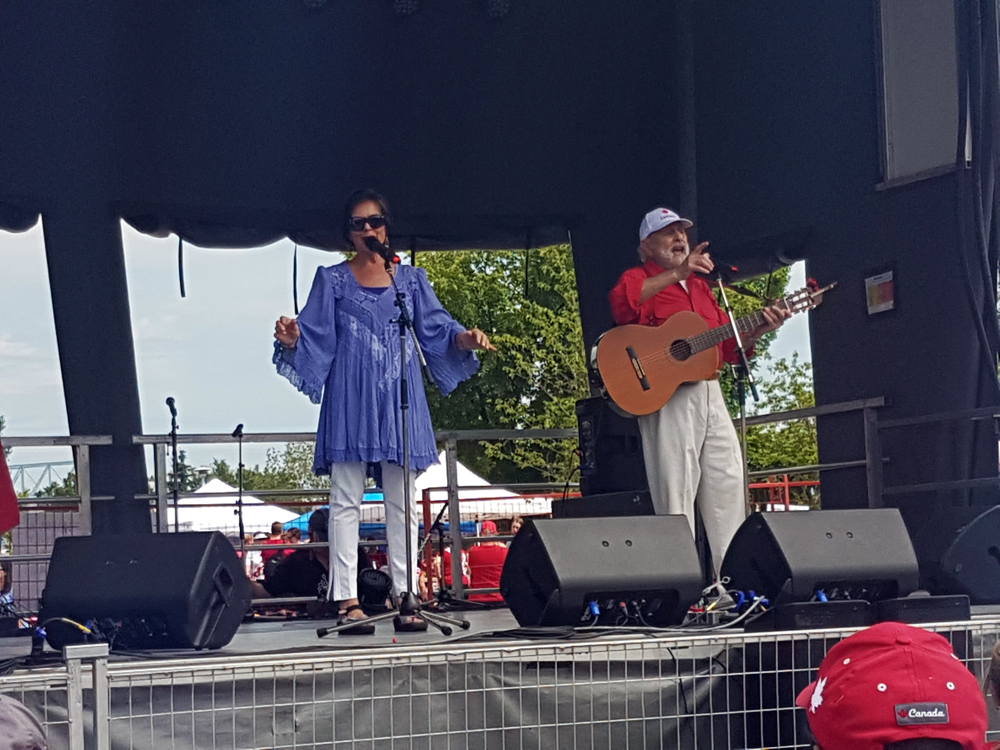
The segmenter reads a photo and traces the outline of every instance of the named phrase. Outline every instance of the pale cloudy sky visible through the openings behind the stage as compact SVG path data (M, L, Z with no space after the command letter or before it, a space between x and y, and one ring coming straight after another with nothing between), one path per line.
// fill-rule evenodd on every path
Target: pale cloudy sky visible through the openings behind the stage
M271 364L274 321L293 315L292 254L288 240L247 250L184 246L187 297L180 296L177 238L158 239L122 223L132 311L142 424L147 434L170 430L168 396L176 399L182 432L310 432L319 407ZM305 304L320 265L337 253L299 248L299 304ZM805 283L803 263L792 267L791 289ZM796 315L771 347L808 361L809 329ZM42 225L0 231L0 415L5 435L66 435ZM263 464L268 446L248 445L244 461ZM213 457L236 463L235 446L187 448L189 463ZM64 448L17 448L11 464L62 461ZM149 463L152 466L152 463Z

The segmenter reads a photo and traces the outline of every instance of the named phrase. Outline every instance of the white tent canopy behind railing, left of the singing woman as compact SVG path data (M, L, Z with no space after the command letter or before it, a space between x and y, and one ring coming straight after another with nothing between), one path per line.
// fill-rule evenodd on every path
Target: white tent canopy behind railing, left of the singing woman
M239 533L239 518L236 515L236 488L230 487L221 479L212 479L195 490L195 494L211 494L216 492L232 492L229 497L192 497L181 498L178 501L180 531L221 531L232 535ZM168 502L170 502L168 500ZM184 507L184 506L209 507ZM243 493L243 529L248 534L271 530L275 521L285 523L298 517L298 513L278 505L265 503L259 497ZM174 527L174 509L171 502L167 511L170 528Z

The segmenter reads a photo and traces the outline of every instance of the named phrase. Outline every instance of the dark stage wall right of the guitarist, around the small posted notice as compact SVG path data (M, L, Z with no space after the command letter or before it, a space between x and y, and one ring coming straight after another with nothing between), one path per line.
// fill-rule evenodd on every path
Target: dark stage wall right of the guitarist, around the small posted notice
M954 177L876 190L871 0L701 4L698 22L701 236L813 227L809 275L840 282L810 316L817 402L884 396L886 418L990 404L992 394L980 393ZM897 309L868 316L864 277L886 267L896 273ZM821 419L819 437L822 461L863 457L859 415ZM887 484L996 475L992 434L936 425L884 440ZM866 504L862 470L822 480L825 507Z

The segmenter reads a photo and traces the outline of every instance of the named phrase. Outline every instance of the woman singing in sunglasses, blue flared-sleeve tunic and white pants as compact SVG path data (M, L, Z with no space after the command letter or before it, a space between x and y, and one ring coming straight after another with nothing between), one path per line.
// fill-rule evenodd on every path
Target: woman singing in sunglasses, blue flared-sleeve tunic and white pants
M330 581L328 598L339 604L341 623L358 621L352 633L374 633L357 598L358 521L367 463L382 466L386 537L394 593L417 591L417 567L406 580L406 508L403 504L403 440L400 412L400 336L396 284L405 294L434 381L448 394L478 369L475 349L495 351L478 328L466 330L441 306L427 272L391 266L368 249L374 237L388 245L389 207L373 190L359 190L344 206L343 233L354 257L319 268L298 319L280 318L274 363L315 404L322 404L313 470L330 475ZM410 497L413 481L437 463L437 445L424 392L420 361L407 334L409 379ZM412 550L417 549L417 514L411 513ZM418 623L397 620L397 627ZM423 623L419 625L424 626ZM425 627L425 626L424 626Z

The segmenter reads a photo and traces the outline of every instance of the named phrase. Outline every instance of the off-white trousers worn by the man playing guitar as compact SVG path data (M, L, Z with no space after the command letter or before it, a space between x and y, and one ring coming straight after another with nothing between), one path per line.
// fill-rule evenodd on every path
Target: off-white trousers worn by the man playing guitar
M746 518L743 456L717 380L685 383L658 412L639 417L653 508L683 514L697 501L716 571Z

